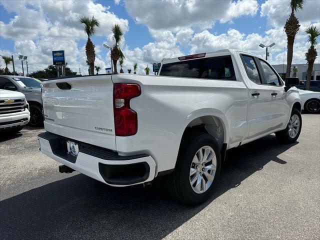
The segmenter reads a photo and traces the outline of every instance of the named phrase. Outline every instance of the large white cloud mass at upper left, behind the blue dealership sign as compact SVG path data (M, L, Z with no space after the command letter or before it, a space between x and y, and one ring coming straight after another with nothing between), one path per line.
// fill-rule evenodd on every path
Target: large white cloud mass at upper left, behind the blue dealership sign
M109 6L103 6L92 0L81 1L55 1L16 0L1 1L0 4L8 12L16 15L4 23L0 21L0 34L4 38L14 40L14 50L17 54L28 56L29 72L43 69L52 64L52 50L64 49L68 67L78 71L79 67L87 68L85 63L84 46L78 46L79 39L86 39L83 26L79 23L79 16L94 15L100 21L96 35L104 36L112 42L111 26L119 24L123 32L128 31L128 20L117 17L109 11ZM2 47L1 47L2 48ZM96 65L104 68L99 46L95 47ZM20 70L17 67L17 70ZM86 70L84 70L86 72Z

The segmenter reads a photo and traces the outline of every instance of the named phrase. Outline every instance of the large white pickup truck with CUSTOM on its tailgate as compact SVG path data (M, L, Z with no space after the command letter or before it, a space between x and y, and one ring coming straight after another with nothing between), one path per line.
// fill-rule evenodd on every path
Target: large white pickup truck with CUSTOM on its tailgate
M294 85L263 59L219 50L164 59L159 75L105 74L42 83L40 150L112 186L166 175L170 192L196 204L211 193L225 151L275 132L301 130Z

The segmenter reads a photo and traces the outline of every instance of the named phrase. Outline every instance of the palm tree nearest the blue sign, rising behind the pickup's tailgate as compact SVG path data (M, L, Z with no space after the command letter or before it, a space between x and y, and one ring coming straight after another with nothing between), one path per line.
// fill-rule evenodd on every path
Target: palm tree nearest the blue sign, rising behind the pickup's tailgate
M92 16L91 18L87 16L81 16L79 18L80 22L84 24L84 32L88 35L88 39L85 44L85 54L86 59L90 68L90 74L94 74L94 60L95 60L95 50L94 50L94 44L92 43L90 36L92 36L95 33L96 27L100 26L100 22L97 18Z

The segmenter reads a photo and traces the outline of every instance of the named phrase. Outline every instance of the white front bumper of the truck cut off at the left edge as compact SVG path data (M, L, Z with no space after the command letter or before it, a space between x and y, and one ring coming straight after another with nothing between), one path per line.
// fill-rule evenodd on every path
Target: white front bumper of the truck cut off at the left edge
M0 130L7 130L25 125L29 120L30 113L27 109L18 113L2 114L0 115Z

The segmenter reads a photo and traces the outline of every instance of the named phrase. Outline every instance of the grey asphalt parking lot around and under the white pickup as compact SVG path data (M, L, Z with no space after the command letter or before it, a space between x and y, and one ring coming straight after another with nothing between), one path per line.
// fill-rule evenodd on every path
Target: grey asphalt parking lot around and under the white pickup
M113 188L38 150L41 128L0 138L0 239L320 239L320 115L298 142L229 150L214 195L190 207L157 180Z

